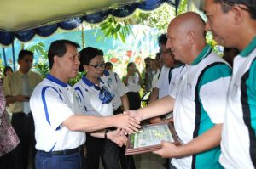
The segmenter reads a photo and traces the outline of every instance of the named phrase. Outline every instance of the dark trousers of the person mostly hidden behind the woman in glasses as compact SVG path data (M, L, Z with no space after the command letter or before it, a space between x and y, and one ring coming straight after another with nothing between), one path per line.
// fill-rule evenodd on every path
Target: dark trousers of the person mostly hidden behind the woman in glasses
M123 113L124 110L122 110L121 107L119 107L117 110L113 111L114 115L118 115ZM119 161L122 169L136 169L133 156L132 155L125 155L125 146L118 147L119 149Z

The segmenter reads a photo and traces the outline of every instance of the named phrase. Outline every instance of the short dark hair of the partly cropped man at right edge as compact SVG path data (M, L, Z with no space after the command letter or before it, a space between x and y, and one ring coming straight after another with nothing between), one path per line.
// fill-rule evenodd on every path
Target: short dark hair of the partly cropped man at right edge
M221 7L224 13L229 12L232 6L236 4L245 5L247 8L243 8L243 9L247 10L251 18L256 20L256 1L255 0L214 0L214 2L221 4Z

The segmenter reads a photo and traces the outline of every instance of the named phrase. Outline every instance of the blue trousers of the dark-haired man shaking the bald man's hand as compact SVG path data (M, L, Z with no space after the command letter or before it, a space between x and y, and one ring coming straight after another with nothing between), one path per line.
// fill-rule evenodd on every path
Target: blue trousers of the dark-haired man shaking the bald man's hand
M36 169L87 169L84 152L78 151L70 155L51 155L38 151L35 158Z

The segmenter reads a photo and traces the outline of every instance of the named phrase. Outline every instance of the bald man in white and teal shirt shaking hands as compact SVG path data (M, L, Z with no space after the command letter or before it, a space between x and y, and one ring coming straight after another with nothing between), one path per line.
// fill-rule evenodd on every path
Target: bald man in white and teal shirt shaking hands
M183 145L162 142L162 149L154 152L172 157L171 168L221 168L219 144L231 69L207 45L204 27L200 15L192 12L171 21L166 48L185 64L179 79L169 96L129 111L137 120L144 120L173 110Z

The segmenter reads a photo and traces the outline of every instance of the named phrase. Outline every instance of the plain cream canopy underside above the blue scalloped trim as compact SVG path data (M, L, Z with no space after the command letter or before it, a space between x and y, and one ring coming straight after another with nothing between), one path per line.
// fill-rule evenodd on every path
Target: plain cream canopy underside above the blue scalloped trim
M142 0L0 0L0 30L20 31Z

